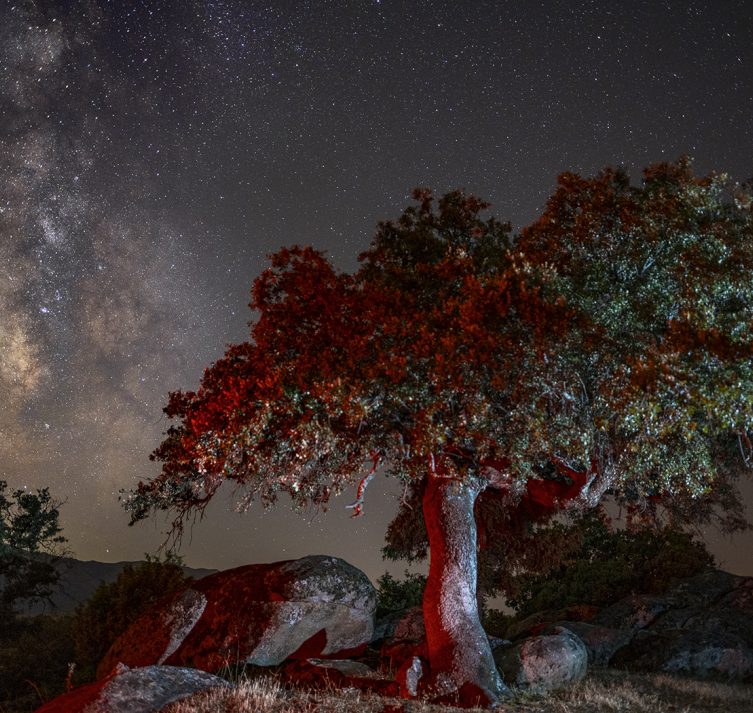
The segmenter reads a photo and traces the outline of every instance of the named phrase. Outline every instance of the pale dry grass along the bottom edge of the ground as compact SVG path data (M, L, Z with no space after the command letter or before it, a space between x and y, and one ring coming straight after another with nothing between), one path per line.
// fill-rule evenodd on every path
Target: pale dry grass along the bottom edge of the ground
M274 677L242 681L175 703L165 713L460 713L424 701L400 701L348 690L306 691ZM481 713L472 709L465 713ZM519 694L499 713L751 713L753 685L696 681L668 675L596 671L548 696Z

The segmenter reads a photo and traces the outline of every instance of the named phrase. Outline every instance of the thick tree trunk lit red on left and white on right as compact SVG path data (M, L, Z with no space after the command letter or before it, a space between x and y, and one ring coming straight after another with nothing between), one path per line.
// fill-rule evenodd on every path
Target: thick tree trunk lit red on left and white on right
M476 601L476 521L480 480L428 475L423 513L429 537L424 621L431 676L460 702L493 705L509 695L479 621Z

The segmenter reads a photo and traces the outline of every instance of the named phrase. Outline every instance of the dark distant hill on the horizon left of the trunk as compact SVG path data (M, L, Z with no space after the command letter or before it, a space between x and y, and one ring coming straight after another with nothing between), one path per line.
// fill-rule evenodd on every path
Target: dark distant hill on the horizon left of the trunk
M140 562L97 562L95 560L81 561L72 557L63 557L58 562L60 583L52 596L52 605L38 603L25 608L26 615L72 612L79 604L83 604L102 582L114 582L123 567L127 564L139 565ZM216 572L216 569L194 569L184 567L186 576L201 579Z

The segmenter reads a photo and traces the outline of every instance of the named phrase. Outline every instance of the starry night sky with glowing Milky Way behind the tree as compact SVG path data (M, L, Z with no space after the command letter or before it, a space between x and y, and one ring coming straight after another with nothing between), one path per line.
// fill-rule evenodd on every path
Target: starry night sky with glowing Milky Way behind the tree
M747 0L0 0L0 478L66 499L77 557L139 559L165 522L128 528L118 492L156 472L167 393L247 334L270 252L352 269L414 186L519 227L561 171L682 154L753 175ZM394 488L358 520L221 497L183 554L374 578ZM714 542L753 574L753 538Z

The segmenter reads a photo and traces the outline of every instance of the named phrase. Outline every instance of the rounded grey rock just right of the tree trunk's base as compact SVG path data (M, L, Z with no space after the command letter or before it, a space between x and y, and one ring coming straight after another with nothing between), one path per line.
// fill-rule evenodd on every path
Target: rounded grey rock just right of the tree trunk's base
M510 647L498 647L494 660L510 686L549 691L575 683L586 675L588 652L567 629L551 636L534 636Z

